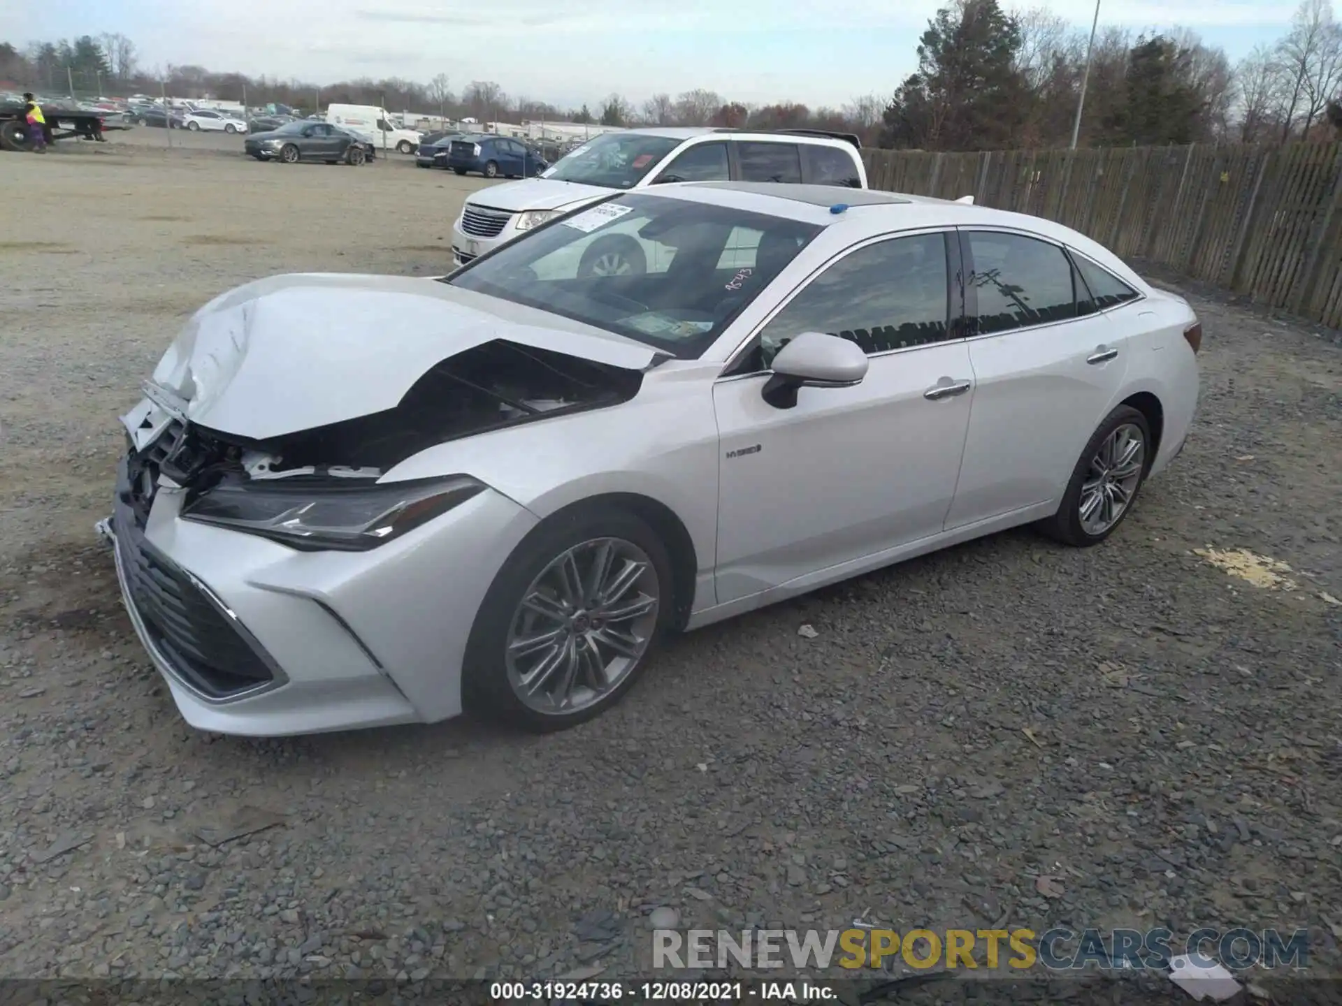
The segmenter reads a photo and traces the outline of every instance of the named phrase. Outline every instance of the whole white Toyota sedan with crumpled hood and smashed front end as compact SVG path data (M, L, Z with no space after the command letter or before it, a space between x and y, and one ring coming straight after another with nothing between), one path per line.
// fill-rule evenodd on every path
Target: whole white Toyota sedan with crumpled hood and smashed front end
M646 268L580 276L612 235ZM1044 220L659 186L450 276L216 298L123 417L99 528L196 727L557 728L668 630L1016 524L1103 541L1184 445L1200 343Z

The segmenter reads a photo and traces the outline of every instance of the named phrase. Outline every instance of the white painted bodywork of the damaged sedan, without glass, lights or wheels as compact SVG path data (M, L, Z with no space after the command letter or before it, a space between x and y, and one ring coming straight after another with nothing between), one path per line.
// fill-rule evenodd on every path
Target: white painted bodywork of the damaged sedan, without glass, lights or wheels
M1154 396L1164 412L1153 473L1188 436L1198 381L1182 338L1192 310L1067 228L941 201L831 215L731 186L675 188L667 199L824 228L696 361L656 362L643 343L421 279L279 276L216 298L192 318L154 377L187 400L193 421L250 437L391 408L424 370L493 338L646 373L623 405L439 444L401 461L384 480L464 473L490 490L366 553L299 553L184 522L180 496L161 491L148 539L236 612L287 677L236 702L207 702L156 660L191 723L278 735L456 715L466 640L498 570L531 528L593 496L633 494L679 519L694 547L688 626L696 628L1048 516L1082 445L1134 394ZM788 410L760 397L765 376L723 374L836 255L878 236L973 225L1066 243L1142 298L1072 322L876 354L860 384L803 388ZM1099 345L1118 346L1119 355L1086 364ZM942 378L970 389L926 400ZM126 424L144 444L164 417L141 402Z

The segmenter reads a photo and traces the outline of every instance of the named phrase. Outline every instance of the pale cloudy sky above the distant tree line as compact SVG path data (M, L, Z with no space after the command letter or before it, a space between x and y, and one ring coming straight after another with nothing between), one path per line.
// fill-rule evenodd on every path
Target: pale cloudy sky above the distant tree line
M1090 28L1091 0L1039 3ZM334 82L497 80L556 105L706 87L742 102L888 94L939 0L0 0L0 40L119 31L146 66ZM1004 4L1009 5L1009 4ZM566 9L565 9L566 8ZM1286 31L1291 0L1102 0L1100 24L1185 25L1232 59ZM562 12L561 12L562 11Z

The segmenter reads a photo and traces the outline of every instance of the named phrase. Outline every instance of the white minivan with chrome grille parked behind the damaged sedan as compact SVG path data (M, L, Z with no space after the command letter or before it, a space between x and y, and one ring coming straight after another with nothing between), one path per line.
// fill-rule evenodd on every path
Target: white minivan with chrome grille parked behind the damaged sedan
M467 262L612 189L678 181L809 182L867 188L862 144L845 133L734 129L628 129L603 133L539 178L494 185L471 196L452 225L452 259ZM647 249L593 247L582 272L643 272ZM590 259L590 260L588 260Z

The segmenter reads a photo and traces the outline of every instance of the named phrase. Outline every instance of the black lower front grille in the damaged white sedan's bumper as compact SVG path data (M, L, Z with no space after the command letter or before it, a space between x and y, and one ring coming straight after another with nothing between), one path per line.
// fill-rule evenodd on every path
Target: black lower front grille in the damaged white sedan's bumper
M136 527L129 506L114 516L126 600L149 644L196 691L227 699L275 679L271 661L196 579L160 554Z

